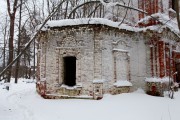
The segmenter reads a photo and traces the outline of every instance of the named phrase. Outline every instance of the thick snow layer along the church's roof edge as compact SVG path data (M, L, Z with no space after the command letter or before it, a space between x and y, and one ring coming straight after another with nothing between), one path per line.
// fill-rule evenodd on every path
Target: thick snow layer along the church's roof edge
M113 22L111 20L105 18L79 18L79 19L63 19L63 20L52 20L48 21L45 26L41 29L41 31L47 31L50 28L58 28L65 26L77 26L77 25L106 25L114 28L118 28L120 30L126 30L131 32L146 32L147 30L156 31L161 33L164 28L169 28L174 34L180 37L179 29L177 27L177 21L169 18L168 15L162 13L156 13L151 16L147 16L141 19L138 23L148 22L150 19L156 19L161 22L163 25L153 25L147 27L137 27L137 26L129 26L127 24L123 24L120 22Z

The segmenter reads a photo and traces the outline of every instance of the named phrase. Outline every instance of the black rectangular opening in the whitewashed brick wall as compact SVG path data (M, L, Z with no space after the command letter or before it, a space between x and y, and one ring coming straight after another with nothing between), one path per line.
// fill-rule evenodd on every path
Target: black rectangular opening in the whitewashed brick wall
M64 84L76 85L76 57L64 57Z

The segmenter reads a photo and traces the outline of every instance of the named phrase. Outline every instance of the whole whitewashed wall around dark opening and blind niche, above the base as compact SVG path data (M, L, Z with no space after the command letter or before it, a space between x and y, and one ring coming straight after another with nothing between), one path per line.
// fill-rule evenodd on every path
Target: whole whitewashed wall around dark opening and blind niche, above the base
M144 86L146 48L141 34L92 26L47 31L47 93L56 94L63 84L65 56L77 58L76 84L82 85L82 94L92 93L95 79L104 80L103 93L108 93L117 80L130 80L136 86L133 89ZM118 56L116 65L113 52Z

